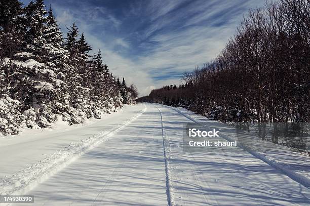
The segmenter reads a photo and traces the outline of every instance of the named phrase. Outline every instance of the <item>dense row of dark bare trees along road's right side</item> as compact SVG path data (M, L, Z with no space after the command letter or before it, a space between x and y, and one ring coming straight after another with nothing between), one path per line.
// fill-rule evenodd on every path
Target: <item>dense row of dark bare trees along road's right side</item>
M223 122L309 122L310 2L251 9L222 52L185 72L179 87L139 98Z

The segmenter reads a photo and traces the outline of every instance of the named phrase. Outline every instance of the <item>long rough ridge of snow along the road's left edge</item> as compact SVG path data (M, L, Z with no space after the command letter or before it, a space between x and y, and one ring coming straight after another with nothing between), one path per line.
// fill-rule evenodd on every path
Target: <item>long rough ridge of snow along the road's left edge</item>
M31 166L15 172L12 176L0 179L0 195L24 194L34 186L45 181L48 177L74 161L76 158L92 149L94 146L106 141L115 132L121 130L129 122L140 116L146 108L137 113L128 112L127 119L118 125L113 125L109 130L102 131L78 142L49 154ZM134 114L134 115L133 115ZM133 117L132 117L133 116ZM128 118L130 117L130 118ZM92 129L92 128L91 128ZM19 137L21 138L21 137ZM10 147L10 145L5 146ZM19 151L15 151L19 152ZM22 163L22 162L20 162Z

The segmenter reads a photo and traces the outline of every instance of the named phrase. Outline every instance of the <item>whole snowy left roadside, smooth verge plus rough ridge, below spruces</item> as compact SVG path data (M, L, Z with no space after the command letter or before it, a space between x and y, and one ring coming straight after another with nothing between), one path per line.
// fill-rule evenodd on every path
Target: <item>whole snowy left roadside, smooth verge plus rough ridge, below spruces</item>
M73 129L57 124L54 127L58 131L50 129L52 131L49 133L48 129L34 131L24 129L17 137L9 136L0 139L0 155L8 156L8 158L0 160L2 165L0 194L25 192L37 184L37 181L44 180L49 174L53 174L94 144L105 140L112 132L132 120L133 116L140 114L143 108L143 106L139 106L131 109L131 106L127 106L118 114L106 115L107 118L97 122L94 120L95 123L90 123L86 127L80 125L80 128L73 127ZM121 118L115 121L115 119L111 120L111 116ZM58 121L58 123L61 122L63 121ZM97 129L96 126L101 127ZM89 131L85 132L86 128ZM81 137L79 138L79 136ZM72 140L77 142L71 142ZM42 155L47 155L47 157L40 159ZM40 160L35 162L36 159ZM25 167L27 165L30 166Z

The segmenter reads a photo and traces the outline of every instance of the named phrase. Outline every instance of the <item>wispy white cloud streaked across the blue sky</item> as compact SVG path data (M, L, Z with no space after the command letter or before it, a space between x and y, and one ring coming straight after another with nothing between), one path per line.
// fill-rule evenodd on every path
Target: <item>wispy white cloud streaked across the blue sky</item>
M185 70L194 69L196 65L201 65L206 61L215 58L216 55L224 48L228 38L235 33L243 14L234 12L230 16L223 14L222 17L216 14L225 8L236 5L237 8L256 7L261 5L260 0L248 2L238 1L197 1L189 4L181 12L173 13L172 11L179 8L184 2L182 1L150 1L144 2L145 5L134 4L131 6L126 15L139 15L144 12L150 18L150 24L143 32L143 38L148 38L149 42L156 43L155 48L147 48L147 44L141 44L147 49L147 55L140 54L135 58L121 55L120 52L114 51L115 46L121 46L127 50L134 50L132 44L124 36L114 34L113 42L105 42L102 34L93 32L93 25L86 21L91 18L95 23L104 28L115 27L121 29L122 22L102 7L88 8L82 11L70 11L68 8L57 8L57 20L63 28L64 25L70 25L73 21L78 23L80 31L83 31L90 45L94 50L101 49L103 60L109 66L114 75L125 77L128 85L134 83L139 90L140 96L147 95L152 89L160 88L164 85L179 84L180 79L173 76L162 80L154 80L156 75L165 75L171 72L182 73ZM189 2L187 2L189 3ZM237 9L236 8L236 9ZM85 13L85 11L87 11ZM236 10L237 11L237 10ZM74 12L74 13L73 13ZM104 14L104 19L101 17ZM85 18L85 15L87 18ZM186 18L184 18L184 15ZM228 16L227 16L228 15ZM143 19L142 19L143 20ZM141 21L142 21L141 20ZM181 28L168 29L174 25L174 22L183 21ZM213 23L224 21L220 27L212 26ZM207 21L209 23L200 24ZM161 31L161 32L156 32Z

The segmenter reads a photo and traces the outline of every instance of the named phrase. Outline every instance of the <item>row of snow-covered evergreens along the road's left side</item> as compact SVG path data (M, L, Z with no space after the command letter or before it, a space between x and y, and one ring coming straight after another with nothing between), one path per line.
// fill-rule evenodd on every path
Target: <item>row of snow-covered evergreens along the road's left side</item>
M101 118L137 98L134 85L115 78L93 55L73 23L65 38L43 0L24 6L0 2L0 132L45 128L61 118L81 123Z

